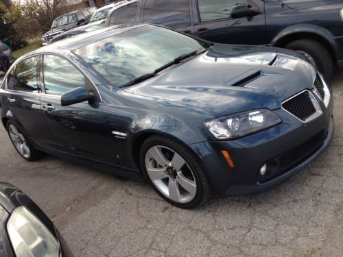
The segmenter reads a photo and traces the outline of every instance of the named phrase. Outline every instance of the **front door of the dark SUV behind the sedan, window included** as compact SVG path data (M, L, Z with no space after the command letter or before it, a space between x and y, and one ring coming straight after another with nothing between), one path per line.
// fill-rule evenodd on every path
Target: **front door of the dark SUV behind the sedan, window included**
M195 35L224 44L263 45L266 43L263 1L192 0ZM231 8L245 3L259 11L251 17L232 19Z

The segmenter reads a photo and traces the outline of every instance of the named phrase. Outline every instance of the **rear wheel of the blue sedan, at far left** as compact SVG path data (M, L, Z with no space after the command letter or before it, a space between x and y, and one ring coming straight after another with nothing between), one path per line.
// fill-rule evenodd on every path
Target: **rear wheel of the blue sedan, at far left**
M8 121L8 123L6 123L6 129L14 148L21 157L28 161L34 161L40 157L40 152L34 149L17 125Z

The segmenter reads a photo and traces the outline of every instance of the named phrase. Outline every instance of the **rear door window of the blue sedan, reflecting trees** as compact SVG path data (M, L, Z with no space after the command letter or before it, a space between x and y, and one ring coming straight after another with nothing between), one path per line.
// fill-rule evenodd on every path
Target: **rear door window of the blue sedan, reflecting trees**
M8 76L8 89L40 93L37 84L37 63L38 56L34 56L16 64L15 70L13 69Z

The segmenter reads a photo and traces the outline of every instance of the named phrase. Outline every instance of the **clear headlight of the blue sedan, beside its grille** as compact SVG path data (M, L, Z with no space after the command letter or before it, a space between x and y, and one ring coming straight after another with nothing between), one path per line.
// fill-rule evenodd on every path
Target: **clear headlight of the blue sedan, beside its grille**
M265 130L281 123L281 119L270 110L251 110L220 119L204 121L205 127L217 139L234 139Z

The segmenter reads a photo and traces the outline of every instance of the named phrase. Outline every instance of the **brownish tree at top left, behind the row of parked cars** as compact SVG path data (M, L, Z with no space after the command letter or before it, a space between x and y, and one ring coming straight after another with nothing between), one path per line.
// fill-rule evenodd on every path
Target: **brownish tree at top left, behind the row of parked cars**
M66 0L28 0L23 6L25 14L36 19L40 30L46 32L54 19L64 13L65 3Z

